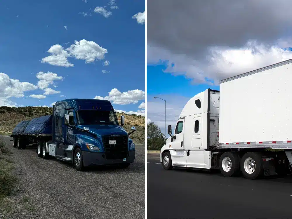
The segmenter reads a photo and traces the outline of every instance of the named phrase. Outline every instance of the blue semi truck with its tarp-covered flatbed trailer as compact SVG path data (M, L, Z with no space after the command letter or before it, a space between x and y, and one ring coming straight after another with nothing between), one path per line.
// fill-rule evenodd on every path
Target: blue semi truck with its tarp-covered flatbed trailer
M86 166L117 164L128 167L135 160L135 144L118 124L107 100L66 99L55 103L53 114L22 121L13 129L13 147L37 144L37 155L73 163L78 171Z

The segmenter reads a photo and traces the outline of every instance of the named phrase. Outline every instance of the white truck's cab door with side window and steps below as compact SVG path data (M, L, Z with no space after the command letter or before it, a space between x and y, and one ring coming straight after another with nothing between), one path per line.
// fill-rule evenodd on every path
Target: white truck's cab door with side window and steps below
M174 166L185 166L186 158L184 151L184 121L185 119L178 119L178 122L175 126L174 135L175 139L172 139L170 143L171 150L171 160Z

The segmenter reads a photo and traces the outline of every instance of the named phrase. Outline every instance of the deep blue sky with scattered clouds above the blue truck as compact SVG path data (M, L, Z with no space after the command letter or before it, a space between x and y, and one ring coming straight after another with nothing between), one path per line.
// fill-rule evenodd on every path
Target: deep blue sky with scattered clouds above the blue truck
M116 88L108 97L115 109L143 110L138 107L145 102L145 25L136 14L144 11L143 1L2 1L0 72L9 79L2 79L7 83L1 84L1 105L106 98ZM46 85L39 86L40 80Z

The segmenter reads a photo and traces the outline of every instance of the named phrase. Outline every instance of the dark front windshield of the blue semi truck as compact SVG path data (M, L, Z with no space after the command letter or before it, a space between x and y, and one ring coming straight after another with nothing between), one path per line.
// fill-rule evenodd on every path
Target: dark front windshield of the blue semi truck
M109 110L78 110L77 118L80 125L118 125L114 112Z

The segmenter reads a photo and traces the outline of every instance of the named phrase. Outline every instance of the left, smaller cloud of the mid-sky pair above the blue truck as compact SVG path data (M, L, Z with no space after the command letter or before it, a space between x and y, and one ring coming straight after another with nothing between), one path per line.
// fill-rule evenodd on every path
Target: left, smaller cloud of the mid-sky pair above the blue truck
M63 49L60 44L55 44L51 46L48 50L49 55L41 60L42 63L48 63L50 65L63 66L63 67L73 67L74 65L69 63L67 58L70 56L67 51Z

